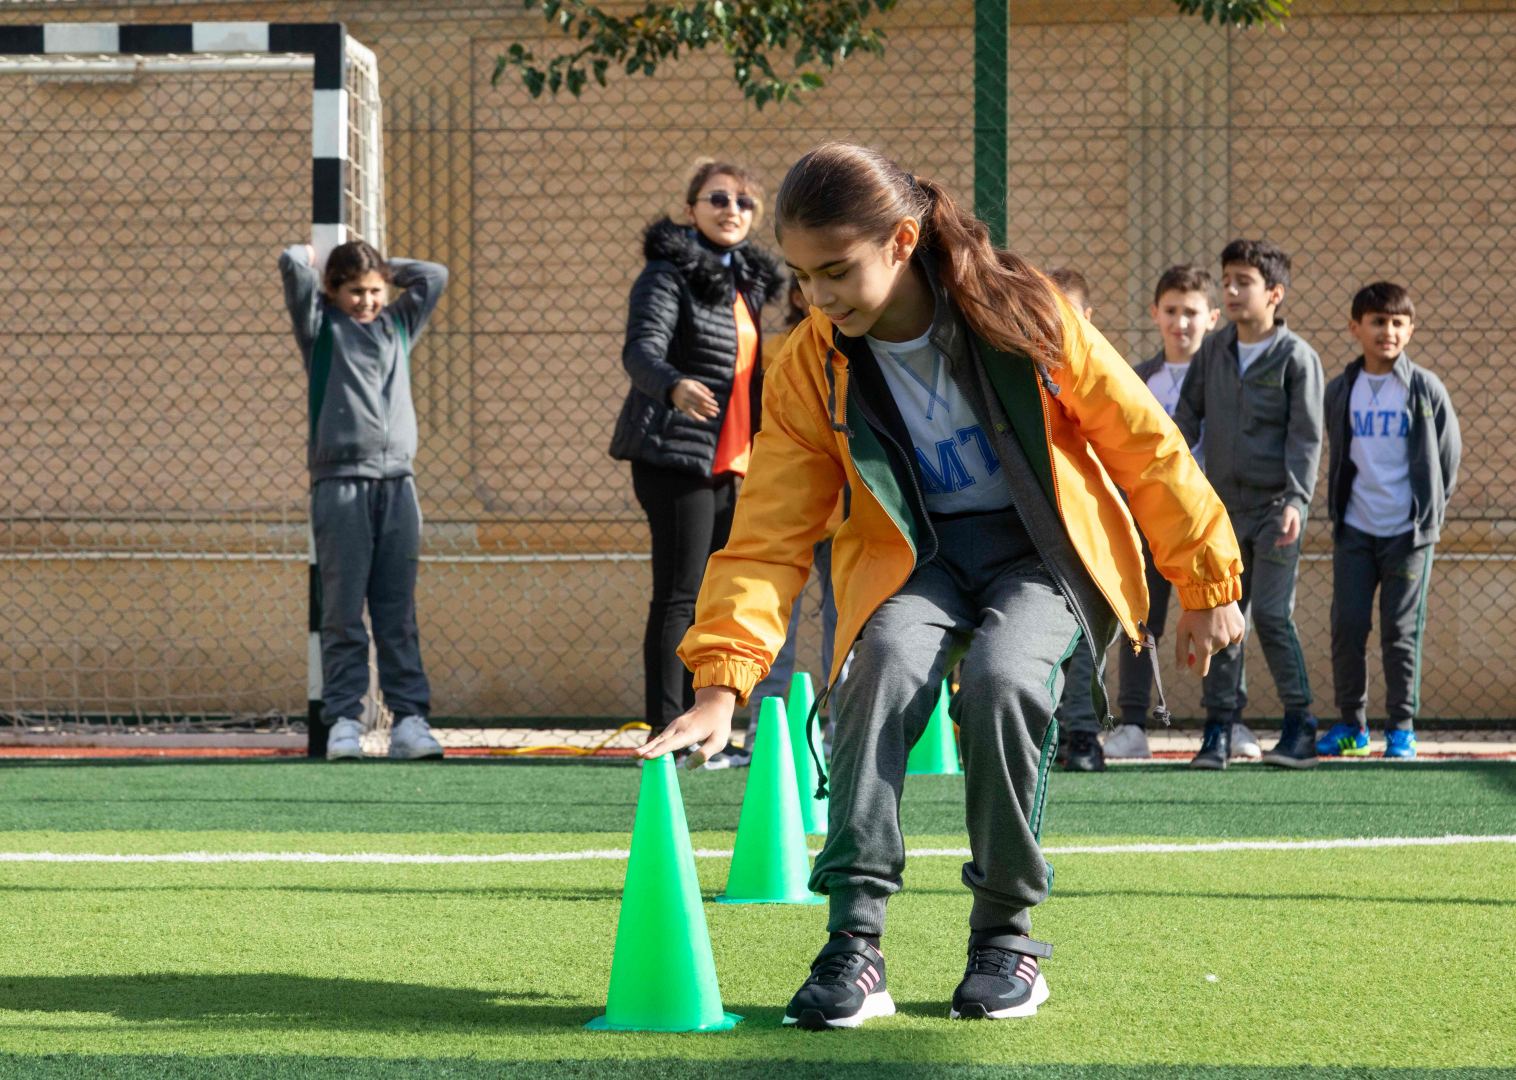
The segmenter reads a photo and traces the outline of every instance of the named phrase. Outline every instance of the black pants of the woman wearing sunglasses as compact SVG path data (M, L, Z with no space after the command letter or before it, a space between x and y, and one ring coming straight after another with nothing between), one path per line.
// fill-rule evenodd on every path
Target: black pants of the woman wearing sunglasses
M705 563L726 546L737 476L696 476L632 463L632 490L653 534L653 599L643 633L643 717L662 731L694 705L694 684L676 649L694 622Z

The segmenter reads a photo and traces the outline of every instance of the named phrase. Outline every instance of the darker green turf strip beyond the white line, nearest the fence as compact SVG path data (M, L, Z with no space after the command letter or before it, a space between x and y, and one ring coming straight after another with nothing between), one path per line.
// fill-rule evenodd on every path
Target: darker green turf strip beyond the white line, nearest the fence
M0 764L0 833L629 833L635 768L461 760L332 766L303 760ZM681 778L691 830L737 824L744 771ZM908 834L963 833L963 780L914 777ZM1516 833L1516 763L1261 766L1222 774L1123 766L1054 774L1058 836L1251 837Z

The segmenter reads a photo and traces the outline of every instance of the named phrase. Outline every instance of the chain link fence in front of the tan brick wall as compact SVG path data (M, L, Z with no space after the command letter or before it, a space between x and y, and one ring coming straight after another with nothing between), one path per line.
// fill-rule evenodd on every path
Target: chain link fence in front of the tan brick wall
M882 58L849 59L803 103L764 111L720 56L584 100L534 100L509 76L491 85L512 41L556 47L538 15L514 9L193 8L341 20L377 56L390 253L453 272L412 364L417 605L435 711L547 727L619 722L641 701L647 529L626 467L606 455L641 229L682 212L702 155L753 167L772 193L825 138L879 146L981 200L1004 167L1011 244L1085 273L1095 323L1132 359L1158 344L1158 273L1179 261L1219 273L1237 235L1293 256L1284 312L1328 376L1354 356L1352 293L1380 278L1408 285L1411 352L1448 384L1466 443L1422 711L1510 717L1516 646L1501 631L1516 493L1498 425L1516 391L1498 297L1516 228L1516 12L1425 6L1243 32L1152 5L1017 3L1002 44L984 36L996 20L976 35L972 3L904 0ZM186 8L5 3L0 32L176 23ZM984 70L1001 56L1008 77ZM1002 165L984 138L996 74L1008 85ZM0 135L12 296L0 716L41 728L303 717L305 381L274 259L309 234L309 77L0 74ZM772 246L769 223L758 234ZM766 317L778 331L778 309ZM1330 713L1323 498L1325 482L1298 619ZM814 614L814 596L805 604ZM817 637L808 617L799 660L813 672ZM1199 714L1195 681L1169 673L1176 714ZM1280 713L1267 678L1251 690L1257 714Z

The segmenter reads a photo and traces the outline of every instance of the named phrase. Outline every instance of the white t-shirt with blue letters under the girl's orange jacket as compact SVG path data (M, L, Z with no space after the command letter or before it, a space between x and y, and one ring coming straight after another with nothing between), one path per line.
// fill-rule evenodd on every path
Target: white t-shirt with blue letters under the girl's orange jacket
M961 514L1010 507L1001 460L931 334L914 341L866 340L911 435L926 510Z

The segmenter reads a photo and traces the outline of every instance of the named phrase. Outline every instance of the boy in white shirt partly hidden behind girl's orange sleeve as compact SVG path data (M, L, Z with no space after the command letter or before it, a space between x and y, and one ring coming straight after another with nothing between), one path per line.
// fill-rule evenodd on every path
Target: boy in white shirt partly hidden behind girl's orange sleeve
M1190 370L1195 353L1205 335L1216 329L1220 308L1216 305L1216 281L1198 265L1172 265L1158 278L1152 291L1149 309L1163 347L1132 370L1148 384L1148 390L1163 405L1170 417L1179 403L1179 387ZM1204 466L1204 438L1190 449ZM1172 586L1152 564L1148 542L1143 540L1143 558L1148 563L1148 629L1154 640L1163 637L1163 623L1169 616ZM1152 708L1152 666L1148 657L1131 649L1120 654L1120 693L1116 705L1120 724L1105 737L1105 757L1148 758L1148 713ZM1258 740L1243 724L1233 724L1231 757L1255 761L1263 754Z

